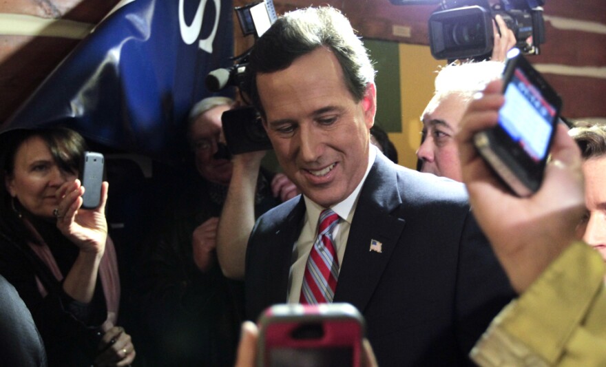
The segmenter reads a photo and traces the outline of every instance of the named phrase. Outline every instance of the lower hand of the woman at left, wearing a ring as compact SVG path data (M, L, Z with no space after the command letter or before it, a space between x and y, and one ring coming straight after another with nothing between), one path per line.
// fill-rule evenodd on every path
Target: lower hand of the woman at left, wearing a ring
M137 354L130 335L120 326L110 328L103 335L98 350L99 354L94 361L94 366L98 367L128 366Z

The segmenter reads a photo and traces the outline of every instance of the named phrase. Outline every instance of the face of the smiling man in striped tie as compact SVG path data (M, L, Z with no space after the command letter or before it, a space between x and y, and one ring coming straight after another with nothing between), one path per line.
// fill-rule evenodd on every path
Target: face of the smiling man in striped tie
M323 207L341 202L366 172L375 85L356 102L333 52L317 48L257 75L264 126L284 173Z

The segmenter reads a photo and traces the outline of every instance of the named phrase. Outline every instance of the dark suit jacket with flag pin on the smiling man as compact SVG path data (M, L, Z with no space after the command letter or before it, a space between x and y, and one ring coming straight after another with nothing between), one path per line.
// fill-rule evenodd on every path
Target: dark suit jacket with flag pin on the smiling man
M495 203L498 205L498 203ZM305 205L294 198L262 216L249 240L249 319L286 302ZM369 251L382 242L382 253ZM377 154L362 191L334 302L362 312L379 366L457 366L514 296L470 213L463 185Z

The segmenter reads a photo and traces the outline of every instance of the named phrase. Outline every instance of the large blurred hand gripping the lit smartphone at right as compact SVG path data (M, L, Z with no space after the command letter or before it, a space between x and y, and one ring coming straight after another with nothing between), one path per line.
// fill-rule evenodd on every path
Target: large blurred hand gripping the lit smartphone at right
M470 102L457 133L463 183L483 233L517 293L530 284L576 239L585 213L581 152L558 123L539 191L514 195L494 175L474 145L474 135L498 123L503 81L493 81Z

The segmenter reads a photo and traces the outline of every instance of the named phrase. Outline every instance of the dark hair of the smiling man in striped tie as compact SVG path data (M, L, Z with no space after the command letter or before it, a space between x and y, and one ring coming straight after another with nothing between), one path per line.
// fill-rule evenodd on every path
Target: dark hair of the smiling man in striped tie
M265 111L258 95L259 73L284 70L300 56L326 47L335 54L344 82L355 101L361 101L375 69L362 41L339 10L331 7L306 8L278 18L251 50L243 90L262 116Z

